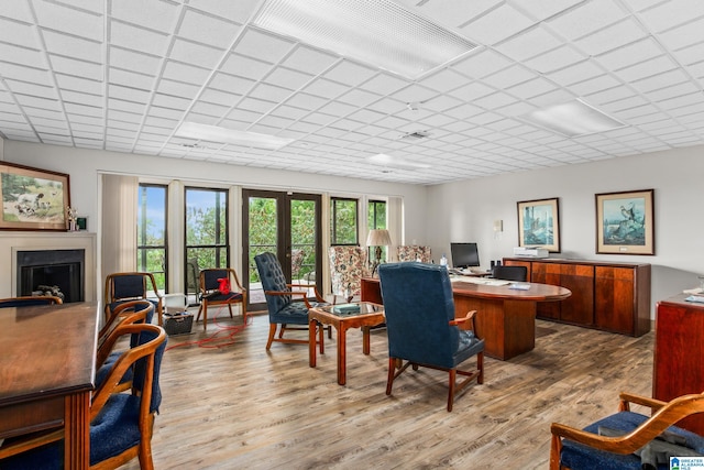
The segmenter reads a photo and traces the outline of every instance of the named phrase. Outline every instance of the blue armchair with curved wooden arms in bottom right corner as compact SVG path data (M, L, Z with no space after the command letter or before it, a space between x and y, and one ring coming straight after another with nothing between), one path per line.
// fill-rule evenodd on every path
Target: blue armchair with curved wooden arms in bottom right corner
M668 457L704 453L704 437L672 426L685 416L704 413L704 394L670 402L622 393L618 413L584 429L553 423L550 470L670 469ZM649 407L652 415L630 411ZM675 447L676 446L676 447Z

